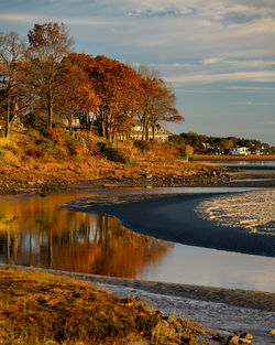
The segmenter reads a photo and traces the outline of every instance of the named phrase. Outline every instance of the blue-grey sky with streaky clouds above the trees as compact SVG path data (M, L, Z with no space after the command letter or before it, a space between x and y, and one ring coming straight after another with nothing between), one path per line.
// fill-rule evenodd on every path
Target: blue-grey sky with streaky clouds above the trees
M275 0L0 0L0 31L64 22L79 53L147 64L172 84L175 133L275 145Z

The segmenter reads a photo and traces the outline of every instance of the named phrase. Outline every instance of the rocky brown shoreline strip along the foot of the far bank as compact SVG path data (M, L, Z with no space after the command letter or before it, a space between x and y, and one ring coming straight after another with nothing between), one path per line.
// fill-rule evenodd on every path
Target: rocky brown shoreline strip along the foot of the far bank
M139 177L112 177L87 179L73 181L40 181L31 179L28 182L15 182L11 176L10 180L1 183L0 195L15 194L36 194L36 193L55 193L69 191L88 191L88 190L121 190L121 188L162 188L162 187L275 187L275 168L274 170L257 169L235 169L212 164L201 165L202 171L197 174L178 175L177 173L168 174L143 174ZM6 176L7 180L7 176ZM248 181L253 180L253 181ZM10 181L10 182L9 182Z

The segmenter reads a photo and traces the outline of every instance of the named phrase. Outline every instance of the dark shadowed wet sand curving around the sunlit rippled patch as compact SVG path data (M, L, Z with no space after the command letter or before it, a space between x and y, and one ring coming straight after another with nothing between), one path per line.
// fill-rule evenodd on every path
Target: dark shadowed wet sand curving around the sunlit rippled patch
M111 215L131 230L168 241L274 257L275 236L219 226L198 217L195 212L198 204L216 196L202 193L116 194L79 198L64 208Z

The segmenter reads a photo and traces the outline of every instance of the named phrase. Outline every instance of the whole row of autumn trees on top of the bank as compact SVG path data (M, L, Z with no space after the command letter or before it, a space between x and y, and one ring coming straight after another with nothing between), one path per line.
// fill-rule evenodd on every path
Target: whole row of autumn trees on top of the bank
M14 118L52 129L78 118L109 140L127 138L133 120L142 138L158 121L182 121L173 89L146 65L133 68L117 60L79 54L64 23L35 24L28 43L15 32L0 33L0 120L9 136Z

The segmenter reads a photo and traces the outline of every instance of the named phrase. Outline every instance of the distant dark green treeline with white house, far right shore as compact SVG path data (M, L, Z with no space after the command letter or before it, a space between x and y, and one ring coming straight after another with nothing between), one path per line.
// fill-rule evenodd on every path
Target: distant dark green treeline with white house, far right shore
M268 143L261 142L256 139L244 139L237 137L208 137L196 132L180 133L179 136L170 137L170 141L178 144L189 144L195 151L216 151L227 153L230 148L245 147L251 153L261 151L262 153L275 154L275 147L270 147Z

